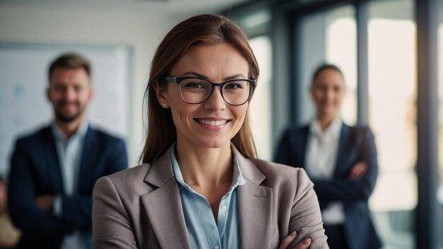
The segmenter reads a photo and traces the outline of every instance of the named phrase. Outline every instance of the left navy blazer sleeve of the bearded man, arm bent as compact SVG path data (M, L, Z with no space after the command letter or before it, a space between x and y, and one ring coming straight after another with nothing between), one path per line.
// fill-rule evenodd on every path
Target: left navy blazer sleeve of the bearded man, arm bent
M23 232L63 235L70 226L35 205L35 187L29 149L21 140L11 156L8 180L8 209L13 224Z

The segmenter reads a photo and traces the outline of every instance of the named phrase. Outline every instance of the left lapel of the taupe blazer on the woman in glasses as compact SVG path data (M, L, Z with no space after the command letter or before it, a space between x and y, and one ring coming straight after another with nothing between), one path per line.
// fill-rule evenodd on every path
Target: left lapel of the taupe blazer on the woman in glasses
M144 181L158 187L140 198L161 248L190 248L169 150L152 164Z

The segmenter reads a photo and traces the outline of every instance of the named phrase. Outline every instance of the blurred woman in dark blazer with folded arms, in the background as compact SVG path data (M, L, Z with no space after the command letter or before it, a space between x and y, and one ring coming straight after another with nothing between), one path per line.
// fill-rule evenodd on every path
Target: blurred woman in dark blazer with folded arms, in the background
M380 248L368 207L378 172L374 136L368 127L350 127L340 119L345 81L337 66L318 67L310 91L316 118L284 132L275 161L305 168L330 248Z

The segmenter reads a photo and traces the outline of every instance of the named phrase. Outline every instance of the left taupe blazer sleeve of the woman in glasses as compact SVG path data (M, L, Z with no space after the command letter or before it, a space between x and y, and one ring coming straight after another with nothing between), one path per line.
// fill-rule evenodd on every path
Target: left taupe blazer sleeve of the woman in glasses
M137 248L130 214L108 177L98 179L93 190L93 249Z

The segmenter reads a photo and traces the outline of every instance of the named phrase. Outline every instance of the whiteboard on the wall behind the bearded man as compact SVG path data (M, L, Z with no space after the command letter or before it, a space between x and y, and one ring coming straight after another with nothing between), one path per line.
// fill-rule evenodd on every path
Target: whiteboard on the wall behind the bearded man
M64 52L91 62L93 99L87 116L94 127L130 135L130 57L122 45L39 45L0 42L0 174L6 176L18 136L52 122L46 98L50 63Z

